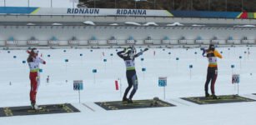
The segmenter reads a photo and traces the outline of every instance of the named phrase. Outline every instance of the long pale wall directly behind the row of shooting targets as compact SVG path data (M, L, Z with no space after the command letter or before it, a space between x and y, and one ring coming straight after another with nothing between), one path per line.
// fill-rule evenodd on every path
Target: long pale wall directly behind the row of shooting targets
M193 44L194 40L199 36L202 39L211 40L213 37L227 40L228 37L241 40L243 37L248 39L256 39L255 28L153 28L153 27L111 27L111 26L1 26L0 46L4 45L4 41L10 37L14 37L19 41L19 45L25 45L26 41L31 37L36 37L40 41L40 45L47 45L47 41L53 36L62 41L61 45L68 45L68 40L73 36L81 41L81 45L87 45L92 37L99 40L99 44L106 44L111 36L118 39L119 44L124 44L129 36L138 40L138 44L142 44L143 40L148 36L152 37L155 44L159 44L165 36L174 39L178 43L178 39L186 37L188 44ZM21 42L23 41L23 42ZM224 41L223 41L224 43Z

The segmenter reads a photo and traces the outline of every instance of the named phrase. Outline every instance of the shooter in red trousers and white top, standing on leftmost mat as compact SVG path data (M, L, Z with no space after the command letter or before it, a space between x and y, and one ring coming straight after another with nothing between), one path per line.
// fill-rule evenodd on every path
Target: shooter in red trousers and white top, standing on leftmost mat
M37 48L33 48L31 52L29 52L28 56L28 66L30 68L30 82L31 82L31 89L30 89L30 101L31 101L31 106L33 109L40 109L38 105L36 104L36 96L38 92L38 86L40 84L40 74L39 74L39 63L46 64L46 62L38 57L38 50Z

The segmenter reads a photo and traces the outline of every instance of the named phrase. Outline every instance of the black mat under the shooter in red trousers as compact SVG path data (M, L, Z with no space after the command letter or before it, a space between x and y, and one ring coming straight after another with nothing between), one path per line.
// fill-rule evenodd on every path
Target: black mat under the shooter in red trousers
M25 116L49 113L80 112L69 103L42 105L41 110L33 110L30 106L25 107L0 107L0 117Z

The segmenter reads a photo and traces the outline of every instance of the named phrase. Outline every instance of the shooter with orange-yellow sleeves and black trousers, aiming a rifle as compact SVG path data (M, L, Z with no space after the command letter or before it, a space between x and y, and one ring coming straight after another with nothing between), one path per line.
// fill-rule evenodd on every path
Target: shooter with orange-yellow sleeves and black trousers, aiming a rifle
M222 55L215 50L213 44L210 44L208 50L203 50L203 54L206 53L206 57L208 57L208 69L207 69L207 77L204 85L205 97L210 97L208 93L208 84L211 82L211 92L213 99L218 99L216 97L214 91L214 85L218 76L218 66L217 66L217 57L222 58Z

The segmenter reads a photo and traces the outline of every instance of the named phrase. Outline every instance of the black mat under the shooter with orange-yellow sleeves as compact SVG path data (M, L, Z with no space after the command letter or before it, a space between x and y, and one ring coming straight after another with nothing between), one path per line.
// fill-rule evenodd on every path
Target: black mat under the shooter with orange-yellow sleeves
M228 103L228 102L253 102L255 100L246 97L240 97L237 95L224 95L218 96L219 99L213 99L212 97L182 97L182 99L197 104L216 104L216 103Z

